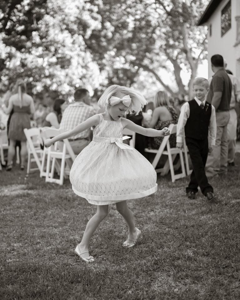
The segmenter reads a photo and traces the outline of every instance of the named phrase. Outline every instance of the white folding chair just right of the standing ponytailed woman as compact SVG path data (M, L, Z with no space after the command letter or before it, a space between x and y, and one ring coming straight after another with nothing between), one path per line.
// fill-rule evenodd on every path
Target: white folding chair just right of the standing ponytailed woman
M43 150L40 147L41 135L39 128L24 128L24 134L27 138L27 174L30 171L41 170L41 161ZM31 168L31 163L35 162L37 168Z

